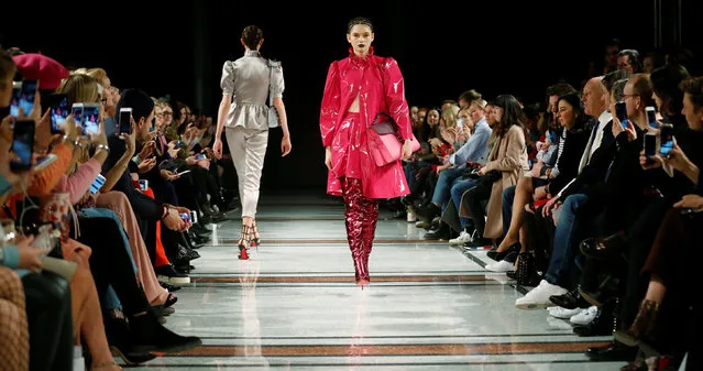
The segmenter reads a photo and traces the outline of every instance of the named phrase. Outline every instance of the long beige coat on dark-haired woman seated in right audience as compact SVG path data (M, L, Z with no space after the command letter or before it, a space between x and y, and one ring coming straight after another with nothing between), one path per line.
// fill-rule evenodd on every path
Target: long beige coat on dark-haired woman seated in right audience
M483 237L496 239L503 237L503 190L516 185L519 177L529 170L523 128L513 126L498 139L491 149L485 167L486 173L492 170L503 172L503 177L493 183L491 199L486 207L486 228L483 232ZM471 217L463 207L464 196L462 196L460 214L462 217Z

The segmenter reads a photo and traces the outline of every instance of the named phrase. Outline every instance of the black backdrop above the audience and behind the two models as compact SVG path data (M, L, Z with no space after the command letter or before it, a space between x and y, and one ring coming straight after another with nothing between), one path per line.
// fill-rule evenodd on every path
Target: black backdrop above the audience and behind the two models
M4 47L41 52L67 67L102 67L121 89L168 94L216 117L222 64L243 54L241 31L255 24L264 31L262 54L282 61L294 145L281 159L281 130L271 133L262 187L323 187L319 105L329 64L348 56L351 18L374 22L375 53L398 61L409 105L438 106L470 88L535 101L561 78L579 87L608 39L642 54L653 50L656 2L14 1L15 17L3 17L0 34ZM681 42L700 56L703 1L659 2L662 46Z

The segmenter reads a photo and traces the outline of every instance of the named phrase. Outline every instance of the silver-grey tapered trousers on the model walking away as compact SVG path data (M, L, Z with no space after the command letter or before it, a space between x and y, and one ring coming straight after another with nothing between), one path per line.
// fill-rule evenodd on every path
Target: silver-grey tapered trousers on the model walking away
M259 185L268 144L268 130L226 128L227 145L239 179L242 217L256 217Z

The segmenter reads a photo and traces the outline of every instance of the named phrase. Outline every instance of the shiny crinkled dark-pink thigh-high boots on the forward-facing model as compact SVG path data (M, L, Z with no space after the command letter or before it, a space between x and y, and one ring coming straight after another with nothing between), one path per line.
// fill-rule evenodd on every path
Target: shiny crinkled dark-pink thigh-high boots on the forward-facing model
M369 284L369 255L378 220L378 201L362 194L361 179L343 178L344 222L349 249L354 260L356 284Z

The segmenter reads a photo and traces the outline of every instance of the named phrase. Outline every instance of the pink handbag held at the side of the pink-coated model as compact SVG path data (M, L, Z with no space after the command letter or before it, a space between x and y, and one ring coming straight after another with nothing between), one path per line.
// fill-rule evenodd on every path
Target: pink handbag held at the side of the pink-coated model
M378 120L384 117L386 120ZM398 135L397 124L395 120L387 113L378 113L371 128L366 130L369 141L369 151L376 166L385 166L393 162L399 161L403 156L403 139ZM413 152L419 151L420 143L410 137L410 148Z

